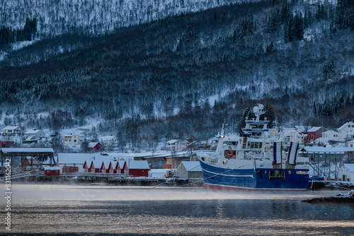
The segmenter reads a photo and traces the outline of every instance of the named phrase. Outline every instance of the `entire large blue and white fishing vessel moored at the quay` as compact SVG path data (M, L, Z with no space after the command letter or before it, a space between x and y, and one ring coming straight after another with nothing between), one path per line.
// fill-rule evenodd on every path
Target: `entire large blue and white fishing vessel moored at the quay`
M296 129L269 129L263 105L253 107L241 134L224 135L216 151L198 152L205 187L213 189L306 190L309 158L299 155L304 136Z

